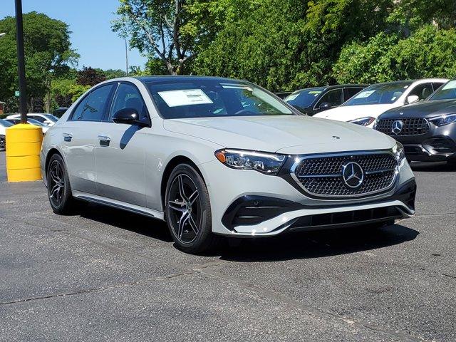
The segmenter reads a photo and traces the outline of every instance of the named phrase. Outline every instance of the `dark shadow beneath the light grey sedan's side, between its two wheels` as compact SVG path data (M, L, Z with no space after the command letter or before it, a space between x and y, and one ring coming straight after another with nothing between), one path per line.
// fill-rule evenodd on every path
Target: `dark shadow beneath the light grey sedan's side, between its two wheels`
M92 203L83 204L78 210L78 214L86 219L109 224L152 239L159 239L163 242L173 241L167 224L160 219Z

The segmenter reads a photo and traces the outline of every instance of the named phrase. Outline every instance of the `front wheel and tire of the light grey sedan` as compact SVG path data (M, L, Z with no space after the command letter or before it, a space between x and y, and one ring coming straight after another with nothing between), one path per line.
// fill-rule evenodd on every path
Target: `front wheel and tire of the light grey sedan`
M209 192L194 167L180 164L172 170L165 192L165 215L178 249L191 254L214 251L221 237L212 233Z

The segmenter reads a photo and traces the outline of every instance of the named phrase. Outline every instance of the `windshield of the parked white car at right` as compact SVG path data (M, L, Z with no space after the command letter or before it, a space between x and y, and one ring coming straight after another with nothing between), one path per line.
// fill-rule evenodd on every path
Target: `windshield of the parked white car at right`
M412 81L409 81L374 84L353 96L343 105L383 105L394 103L412 83Z

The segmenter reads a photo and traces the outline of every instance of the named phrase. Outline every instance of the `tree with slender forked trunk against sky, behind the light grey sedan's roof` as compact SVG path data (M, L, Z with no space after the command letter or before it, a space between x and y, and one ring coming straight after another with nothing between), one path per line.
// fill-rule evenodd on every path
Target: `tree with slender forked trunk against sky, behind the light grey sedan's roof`
M120 0L113 31L130 37L130 46L141 53L160 58L168 73L182 74L199 46L216 33L217 8L210 6L212 2Z

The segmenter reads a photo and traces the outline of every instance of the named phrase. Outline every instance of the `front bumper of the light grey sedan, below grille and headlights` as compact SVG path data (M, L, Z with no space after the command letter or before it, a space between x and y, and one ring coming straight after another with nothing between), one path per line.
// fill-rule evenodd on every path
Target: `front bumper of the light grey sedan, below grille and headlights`
M407 162L388 192L353 199L313 199L282 177L201 165L212 207L212 231L231 237L268 237L292 230L351 227L412 217L416 183Z

